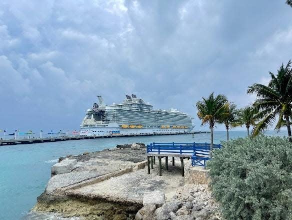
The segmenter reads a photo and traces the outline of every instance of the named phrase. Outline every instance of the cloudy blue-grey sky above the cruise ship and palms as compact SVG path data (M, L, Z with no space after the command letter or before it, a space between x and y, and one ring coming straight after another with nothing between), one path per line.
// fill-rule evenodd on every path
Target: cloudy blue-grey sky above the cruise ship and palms
M292 59L291 42L284 0L2 0L0 129L78 129L96 95L136 94L204 130L195 103L250 104L247 87Z

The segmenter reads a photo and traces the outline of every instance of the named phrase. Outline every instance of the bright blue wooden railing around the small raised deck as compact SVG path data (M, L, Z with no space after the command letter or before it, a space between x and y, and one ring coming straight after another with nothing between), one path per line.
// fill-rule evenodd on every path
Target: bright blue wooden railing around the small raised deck
M220 149L221 144L213 144L214 149ZM150 154L187 154L191 158L192 166L203 166L210 158L209 143L150 143L147 145L147 153Z

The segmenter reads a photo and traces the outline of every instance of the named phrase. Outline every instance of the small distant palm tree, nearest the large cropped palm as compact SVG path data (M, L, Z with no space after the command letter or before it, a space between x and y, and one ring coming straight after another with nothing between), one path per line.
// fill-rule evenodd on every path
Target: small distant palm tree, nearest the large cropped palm
M245 127L247 129L247 136L249 136L250 125L255 126L257 113L258 111L251 106L246 106L239 111L239 121L241 125L245 124Z

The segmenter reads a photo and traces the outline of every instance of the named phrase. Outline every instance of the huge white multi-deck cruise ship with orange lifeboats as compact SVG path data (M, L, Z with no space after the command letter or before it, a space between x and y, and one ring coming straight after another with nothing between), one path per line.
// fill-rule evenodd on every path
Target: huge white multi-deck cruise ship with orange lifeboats
M121 104L105 105L101 96L80 125L81 136L183 133L193 128L191 117L175 109L153 109L136 95L126 95Z

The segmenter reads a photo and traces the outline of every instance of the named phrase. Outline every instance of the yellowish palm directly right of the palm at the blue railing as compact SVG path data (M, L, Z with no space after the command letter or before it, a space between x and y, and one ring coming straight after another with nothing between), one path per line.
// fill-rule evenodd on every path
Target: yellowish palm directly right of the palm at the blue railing
M223 107L220 123L224 124L227 132L227 141L229 140L229 129L241 125L239 118L239 110L236 109L235 104L226 103Z

